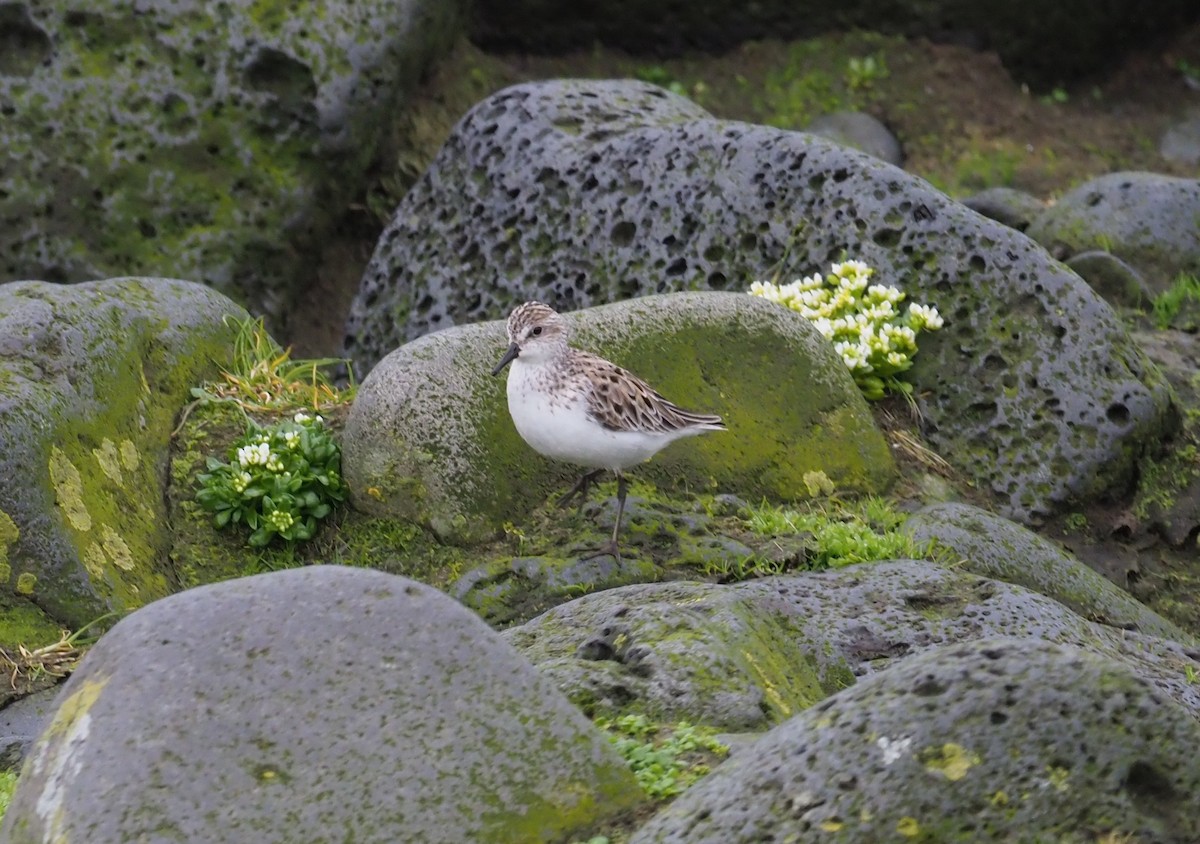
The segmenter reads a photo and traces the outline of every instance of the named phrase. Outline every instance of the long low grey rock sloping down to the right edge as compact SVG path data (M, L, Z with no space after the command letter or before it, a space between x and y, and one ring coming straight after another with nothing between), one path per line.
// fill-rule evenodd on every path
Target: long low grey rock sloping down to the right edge
M1020 583L1109 627L1192 642L1189 634L1103 575L1008 519L970 504L932 504L905 523L914 539L936 541L967 571Z

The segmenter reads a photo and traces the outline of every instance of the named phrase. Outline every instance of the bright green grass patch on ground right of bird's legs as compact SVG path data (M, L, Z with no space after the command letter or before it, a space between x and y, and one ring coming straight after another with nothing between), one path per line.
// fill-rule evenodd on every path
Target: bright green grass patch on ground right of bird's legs
M876 559L929 558L930 543L918 543L900 531L906 519L886 498L869 496L798 509L763 504L751 508L746 526L772 537L806 534L811 547L805 568L821 570Z

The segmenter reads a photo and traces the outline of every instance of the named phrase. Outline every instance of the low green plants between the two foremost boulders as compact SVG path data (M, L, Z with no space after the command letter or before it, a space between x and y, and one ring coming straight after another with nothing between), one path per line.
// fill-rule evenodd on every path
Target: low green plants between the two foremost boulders
M625 758L637 783L654 800L684 792L730 750L716 741L713 730L688 722L667 726L646 716L628 714L596 718L595 724L608 731L610 741Z

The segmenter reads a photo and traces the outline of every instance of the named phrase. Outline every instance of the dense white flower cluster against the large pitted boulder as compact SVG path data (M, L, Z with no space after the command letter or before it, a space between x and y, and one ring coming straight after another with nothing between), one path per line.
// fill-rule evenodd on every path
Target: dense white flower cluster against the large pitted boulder
M854 382L868 399L882 399L887 390L908 394L912 385L899 375L912 366L917 335L943 324L936 307L898 305L905 294L887 285L871 285L875 270L862 261L833 264L788 285L756 281L750 294L798 311L833 342Z

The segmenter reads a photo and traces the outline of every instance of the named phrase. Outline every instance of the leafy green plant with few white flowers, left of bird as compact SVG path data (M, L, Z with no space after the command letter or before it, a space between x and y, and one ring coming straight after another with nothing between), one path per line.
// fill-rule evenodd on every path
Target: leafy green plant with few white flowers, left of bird
M229 460L209 457L196 501L218 528L245 523L254 547L275 537L311 539L317 521L346 499L342 451L320 417L298 413L269 429L251 423Z

